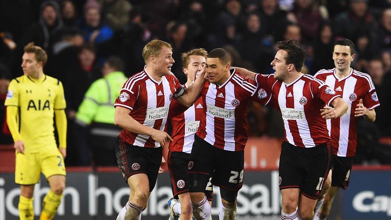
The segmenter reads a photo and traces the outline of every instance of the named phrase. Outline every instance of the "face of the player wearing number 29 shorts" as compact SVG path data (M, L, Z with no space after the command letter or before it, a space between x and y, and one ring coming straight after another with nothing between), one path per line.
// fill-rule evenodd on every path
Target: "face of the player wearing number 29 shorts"
M206 59L206 74L213 84L222 85L230 77L230 64L222 64L218 58Z

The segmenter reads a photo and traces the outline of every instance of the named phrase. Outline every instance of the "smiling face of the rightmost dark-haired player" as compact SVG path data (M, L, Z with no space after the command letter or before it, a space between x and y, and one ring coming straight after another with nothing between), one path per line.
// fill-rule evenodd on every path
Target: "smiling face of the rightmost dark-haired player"
M336 45L332 52L332 59L334 60L336 69L341 72L347 71L348 69L350 71L350 64L354 59L354 54L351 54L349 46Z

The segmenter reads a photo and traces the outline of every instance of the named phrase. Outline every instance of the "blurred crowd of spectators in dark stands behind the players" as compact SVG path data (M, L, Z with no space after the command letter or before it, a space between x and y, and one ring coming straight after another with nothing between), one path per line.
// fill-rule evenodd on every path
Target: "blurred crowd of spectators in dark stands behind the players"
M142 49L153 39L172 45L176 61L172 72L184 84L180 56L192 48L210 51L222 47L231 53L232 66L269 74L273 73L270 62L277 50L276 42L294 39L306 50L301 72L313 75L334 67L333 43L348 38L356 45L352 68L370 74L381 103L376 108L375 122L358 122L355 163L391 161L391 146L379 142L391 136L391 116L387 111L391 108L391 1L1 1L0 37L0 144L13 142L4 107L9 81L23 74L23 48L35 42L48 54L44 73L58 78L64 86L67 166L98 163L90 160L89 154L94 151L88 147L91 143L78 142L89 140L87 136L91 135L80 128L77 117L90 86L109 67L127 77L141 70ZM108 62L107 67L113 56L124 65ZM268 106L252 103L247 120L249 136L284 136L280 113ZM115 159L111 165L116 166Z

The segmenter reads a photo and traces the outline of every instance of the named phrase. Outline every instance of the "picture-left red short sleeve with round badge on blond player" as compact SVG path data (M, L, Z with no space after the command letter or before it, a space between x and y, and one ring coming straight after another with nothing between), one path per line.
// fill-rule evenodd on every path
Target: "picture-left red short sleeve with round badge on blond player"
M120 106L132 111L138 97L140 86L139 84L134 84L130 87L126 87L126 85L127 83L125 82L121 89L120 95L116 99L116 103L114 103L114 107Z

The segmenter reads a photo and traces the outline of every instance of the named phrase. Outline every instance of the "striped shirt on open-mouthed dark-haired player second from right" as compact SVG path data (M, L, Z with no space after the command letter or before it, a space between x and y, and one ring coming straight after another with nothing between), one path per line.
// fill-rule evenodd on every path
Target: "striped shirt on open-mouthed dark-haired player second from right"
M283 116L285 141L297 147L311 148L330 140L320 109L340 95L323 81L306 74L288 85L275 79L274 74L257 74L256 81L271 89L271 104L280 109Z

